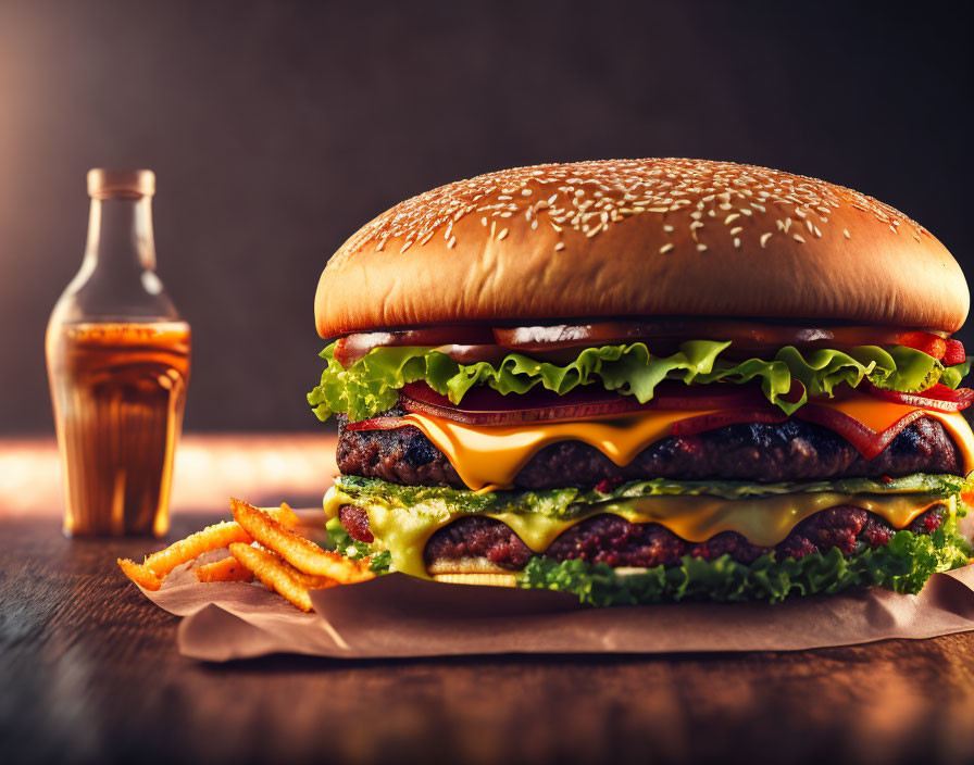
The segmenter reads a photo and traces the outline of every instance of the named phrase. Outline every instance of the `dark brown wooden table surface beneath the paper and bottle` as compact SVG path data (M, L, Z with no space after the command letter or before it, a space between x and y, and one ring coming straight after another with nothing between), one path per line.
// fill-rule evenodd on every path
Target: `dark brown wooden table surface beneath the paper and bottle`
M114 564L154 540L68 540L51 507L4 502L3 762L974 762L971 632L795 653L209 665L177 654L178 619ZM173 534L221 515L201 510Z

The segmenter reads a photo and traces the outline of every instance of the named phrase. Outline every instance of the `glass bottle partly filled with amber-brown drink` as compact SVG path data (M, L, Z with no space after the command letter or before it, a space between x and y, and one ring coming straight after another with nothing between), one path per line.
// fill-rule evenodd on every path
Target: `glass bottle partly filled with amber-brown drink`
M189 325L155 275L148 170L88 173L80 271L47 328L64 534L168 530L189 379Z

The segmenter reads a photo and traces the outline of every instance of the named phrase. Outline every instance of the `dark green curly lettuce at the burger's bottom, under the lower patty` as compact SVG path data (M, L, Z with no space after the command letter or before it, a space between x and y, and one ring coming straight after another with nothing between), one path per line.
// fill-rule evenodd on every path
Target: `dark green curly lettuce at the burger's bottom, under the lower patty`
M723 555L685 555L679 565L616 570L579 560L533 557L519 586L571 592L590 606L638 605L679 600L777 603L794 595L834 593L849 587L885 587L915 593L936 572L966 565L971 545L951 516L931 535L897 531L885 547L860 545L849 557L837 548L804 557L762 555L750 565Z

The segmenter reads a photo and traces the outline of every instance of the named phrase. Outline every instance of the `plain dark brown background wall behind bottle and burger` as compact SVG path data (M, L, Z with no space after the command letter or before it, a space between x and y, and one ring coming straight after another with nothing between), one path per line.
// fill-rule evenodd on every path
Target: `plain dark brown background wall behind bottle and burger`
M325 258L500 167L786 168L900 208L970 271L970 29L944 8L0 0L0 434L51 430L43 327L96 165L158 173L160 272L196 335L188 429L320 427Z

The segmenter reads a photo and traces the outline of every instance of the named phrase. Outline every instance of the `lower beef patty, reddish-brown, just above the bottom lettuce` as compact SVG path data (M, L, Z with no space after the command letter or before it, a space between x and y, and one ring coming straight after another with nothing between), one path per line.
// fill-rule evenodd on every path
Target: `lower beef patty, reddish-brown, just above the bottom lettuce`
M909 529L914 534L932 534L944 522L942 505L917 516ZM372 541L369 517L360 507L345 505L339 518L348 532L360 541ZM633 524L617 515L595 515L563 531L545 551L557 561L579 559L610 566L670 566L684 555L712 561L728 554L740 563L752 563L774 551L778 557L804 557L813 552L838 548L850 555L857 544L870 548L886 544L896 532L874 513L840 505L823 510L798 524L774 548L752 544L735 531L717 534L705 542L688 542L660 524ZM454 521L439 529L426 543L426 565L461 559L487 559L502 568L517 570L527 565L534 553L507 524L484 515Z

